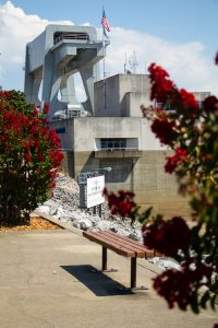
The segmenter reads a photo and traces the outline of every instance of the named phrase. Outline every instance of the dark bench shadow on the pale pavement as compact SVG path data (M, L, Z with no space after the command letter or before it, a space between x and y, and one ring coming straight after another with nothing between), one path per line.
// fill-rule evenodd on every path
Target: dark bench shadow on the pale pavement
M109 278L104 272L97 271L93 266L61 266L61 268L86 285L96 296L134 294L131 290L125 290L125 286Z

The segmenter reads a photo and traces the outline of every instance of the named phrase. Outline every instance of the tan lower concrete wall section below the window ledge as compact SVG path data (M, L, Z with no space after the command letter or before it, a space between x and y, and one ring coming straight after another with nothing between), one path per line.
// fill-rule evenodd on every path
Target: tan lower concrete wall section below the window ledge
M75 152L75 175L81 171L111 167L111 172L105 173L109 190L131 190L135 192L135 200L142 209L152 206L155 213L162 213L167 218L183 215L190 220L187 199L178 194L175 177L164 171L165 154L161 151L143 151L138 159L96 159L90 152Z

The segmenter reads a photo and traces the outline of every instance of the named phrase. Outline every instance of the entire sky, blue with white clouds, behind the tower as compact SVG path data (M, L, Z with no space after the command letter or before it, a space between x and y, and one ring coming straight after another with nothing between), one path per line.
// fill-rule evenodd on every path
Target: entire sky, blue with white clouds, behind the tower
M218 70L213 66L218 0L105 0L104 7L111 26L108 74L122 72L125 55L135 52L137 72L156 61L181 87L218 90ZM99 0L0 0L0 84L23 87L25 44L46 24L89 23L100 32L101 13Z

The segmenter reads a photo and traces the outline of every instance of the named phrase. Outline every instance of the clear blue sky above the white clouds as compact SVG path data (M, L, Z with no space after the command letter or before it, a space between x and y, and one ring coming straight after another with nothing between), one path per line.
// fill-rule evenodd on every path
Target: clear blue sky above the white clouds
M98 26L102 1L99 0L13 0L27 14L46 20L89 22ZM111 26L146 32L170 42L204 42L208 51L218 43L218 0L105 0Z

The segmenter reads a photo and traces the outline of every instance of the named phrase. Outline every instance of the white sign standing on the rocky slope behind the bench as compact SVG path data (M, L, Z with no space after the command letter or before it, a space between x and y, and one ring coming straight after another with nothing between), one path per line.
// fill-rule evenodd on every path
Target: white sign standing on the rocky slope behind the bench
M105 175L87 178L87 208L93 208L105 202L102 190L105 188Z

